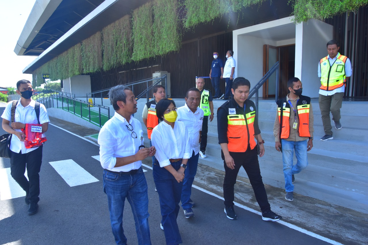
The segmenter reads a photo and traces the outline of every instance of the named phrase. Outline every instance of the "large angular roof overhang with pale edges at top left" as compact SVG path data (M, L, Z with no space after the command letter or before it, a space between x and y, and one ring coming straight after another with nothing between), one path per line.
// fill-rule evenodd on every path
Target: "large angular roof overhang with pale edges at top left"
M39 31L39 33L35 32L37 31L36 29L38 29L39 26L41 26L42 22L44 22L42 28L45 26L46 29L47 26L50 32L49 34L46 35L41 34L41 35L45 36L49 40L50 36L51 37L56 36L56 39L53 39L53 42L48 45L45 51L39 50L38 51L39 53L34 52L34 50L32 51L33 55L39 56L23 70L23 73L25 74L31 74L34 70L39 68L41 65L45 64L47 61L58 56L59 54L63 53L70 47L76 45L77 43L95 34L96 32L102 31L103 27L109 25L110 23L116 21L117 19L123 17L126 14L130 14L132 10L146 3L148 0L135 0L135 1L105 0L102 3L98 3L98 6L94 7L88 14L86 14L85 17L83 17L82 15L79 16L78 22L68 23L70 28L61 36L51 34L51 32L54 30L60 31L60 29L57 28L58 27L57 25L53 26L52 21L45 22L45 19L49 14L46 14L44 12L47 10L52 11L52 8L54 8L55 11L57 10L56 7L58 6L54 6L54 4L52 4L53 1L61 1L59 7L63 6L63 13L64 13L63 16L66 17L70 14L72 14L72 16L73 15L78 16L77 14L75 14L77 12L76 8L78 8L78 3L82 4L81 6L85 6L86 8L91 9L91 7L89 6L92 6L93 8L92 2L97 3L100 2L101 0L37 0L35 6L32 9L31 15L29 16L27 23L22 31L22 34L17 43L17 46L15 47L14 52L17 53L18 55L32 54L31 51L27 52L29 49L27 50L20 46L23 46L22 44L26 45L27 42L31 43L33 40L35 42L36 41L43 42L42 40L38 39L39 38L38 35L34 35L43 33L41 31ZM43 7L36 6L39 4L39 2L44 2L46 5L43 5ZM35 7L37 11L35 10ZM35 11L33 12L33 10ZM60 17L60 21L62 18L63 17ZM62 21L62 23L60 22L61 23L60 25L64 25L65 22L67 21ZM39 29L42 30L42 28ZM49 40L47 42L49 42Z

